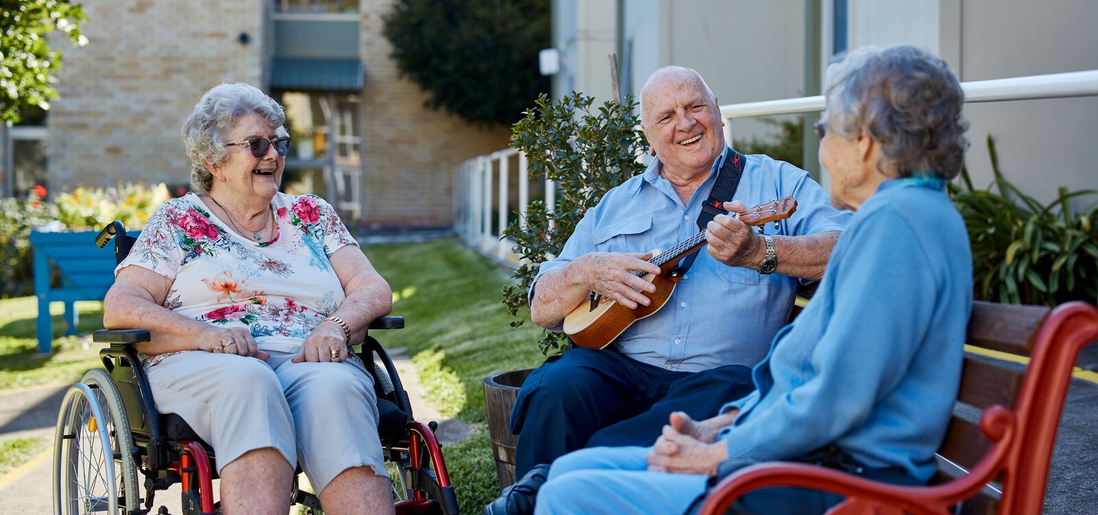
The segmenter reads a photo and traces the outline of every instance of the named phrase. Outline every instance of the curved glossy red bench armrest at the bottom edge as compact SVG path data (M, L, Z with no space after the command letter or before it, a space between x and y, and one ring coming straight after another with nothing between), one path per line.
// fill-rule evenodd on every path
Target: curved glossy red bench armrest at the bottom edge
M948 513L945 507L949 506L927 486L899 486L824 467L775 461L753 464L725 478L706 495L701 513L724 514L729 505L748 492L770 486L796 486L845 496L843 503L828 512L834 514Z

